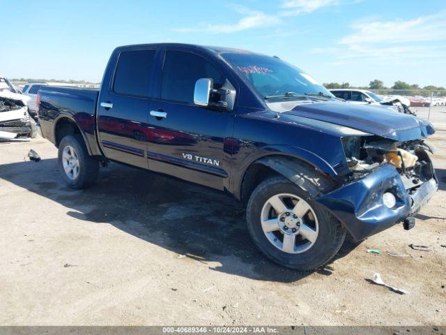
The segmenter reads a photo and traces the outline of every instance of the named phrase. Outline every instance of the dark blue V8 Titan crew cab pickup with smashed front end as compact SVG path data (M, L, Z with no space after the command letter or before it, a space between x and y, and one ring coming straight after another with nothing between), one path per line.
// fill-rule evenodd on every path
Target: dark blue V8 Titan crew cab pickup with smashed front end
M38 101L71 188L113 161L225 191L246 204L260 251L292 269L324 265L346 232L413 228L438 187L428 121L339 101L277 57L118 47L99 90L42 87Z

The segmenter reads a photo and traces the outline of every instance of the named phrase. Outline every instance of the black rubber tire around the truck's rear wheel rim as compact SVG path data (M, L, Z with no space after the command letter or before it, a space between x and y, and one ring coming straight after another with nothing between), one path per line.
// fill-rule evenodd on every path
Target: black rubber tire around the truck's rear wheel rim
M72 147L79 161L79 172L77 177L70 179L63 168L63 150L66 147ZM59 169L61 170L62 178L66 181L70 188L76 190L82 188L89 188L95 184L99 174L99 161L89 155L84 143L84 139L81 135L68 135L63 137L59 144Z

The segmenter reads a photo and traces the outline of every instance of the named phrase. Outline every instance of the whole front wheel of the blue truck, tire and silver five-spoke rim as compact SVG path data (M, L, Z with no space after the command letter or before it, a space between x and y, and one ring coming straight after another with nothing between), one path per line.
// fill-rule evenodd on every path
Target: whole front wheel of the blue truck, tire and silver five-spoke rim
M273 262L309 271L341 248L346 229L302 188L284 177L266 179L247 205L254 244Z

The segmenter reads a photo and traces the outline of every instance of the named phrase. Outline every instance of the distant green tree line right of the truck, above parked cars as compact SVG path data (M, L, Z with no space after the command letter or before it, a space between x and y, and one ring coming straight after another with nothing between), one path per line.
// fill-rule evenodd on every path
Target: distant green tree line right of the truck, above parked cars
M348 82L343 82L341 84L339 84L339 82L324 82L323 86L327 89L373 89L378 91L378 94L392 94L392 90L398 90L394 93L408 96L429 96L431 91L446 91L445 87L434 85L420 87L418 84L408 84L407 82L403 82L401 80L394 82L392 87L385 87L384 82L378 79L371 80L371 82L369 82L369 86L366 87L354 87Z

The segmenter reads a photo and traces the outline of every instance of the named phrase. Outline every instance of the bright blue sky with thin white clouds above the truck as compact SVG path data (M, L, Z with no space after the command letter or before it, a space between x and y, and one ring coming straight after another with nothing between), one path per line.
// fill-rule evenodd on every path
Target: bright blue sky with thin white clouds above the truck
M100 82L114 47L276 55L319 82L446 87L445 0L0 0L0 74Z

